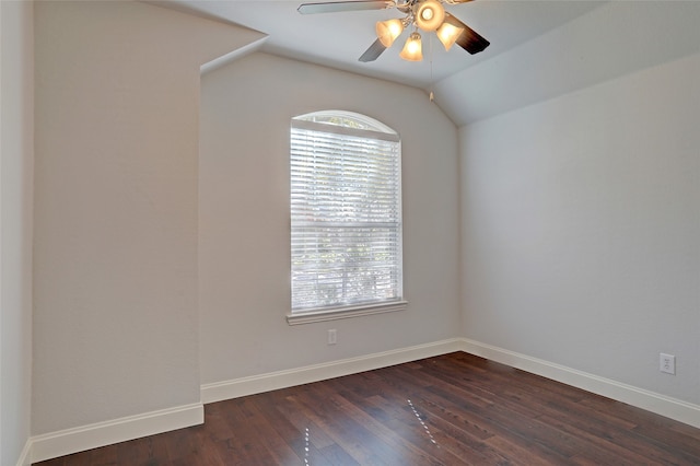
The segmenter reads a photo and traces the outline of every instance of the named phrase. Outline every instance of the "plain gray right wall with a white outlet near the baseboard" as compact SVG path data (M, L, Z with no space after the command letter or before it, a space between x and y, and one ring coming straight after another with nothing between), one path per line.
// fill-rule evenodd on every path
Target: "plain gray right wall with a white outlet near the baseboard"
M460 129L466 337L700 401L699 82L691 55Z

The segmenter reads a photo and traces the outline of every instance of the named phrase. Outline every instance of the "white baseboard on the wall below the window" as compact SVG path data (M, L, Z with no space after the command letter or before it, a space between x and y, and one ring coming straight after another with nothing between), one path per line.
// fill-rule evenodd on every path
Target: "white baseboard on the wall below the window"
M254 395L256 393L357 374L358 372L372 371L374 369L401 364L418 359L462 351L463 347L462 339L455 338L324 364L307 365L289 371L270 372L261 375L205 384L201 386L201 400L205 404L222 401L224 399Z

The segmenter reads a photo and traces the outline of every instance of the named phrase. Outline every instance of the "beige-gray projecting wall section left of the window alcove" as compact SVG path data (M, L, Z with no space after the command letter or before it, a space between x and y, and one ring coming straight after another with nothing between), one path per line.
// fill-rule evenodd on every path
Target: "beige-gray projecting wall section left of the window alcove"
M33 434L198 404L200 66L257 34L38 2Z

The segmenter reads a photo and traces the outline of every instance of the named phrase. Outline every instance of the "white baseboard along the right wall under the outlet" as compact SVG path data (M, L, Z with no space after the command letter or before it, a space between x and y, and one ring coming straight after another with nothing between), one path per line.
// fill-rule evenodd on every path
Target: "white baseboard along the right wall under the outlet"
M537 358L530 358L502 348L485 345L479 341L463 339L462 350L494 362L521 369L525 372L541 375L586 392L602 395L617 401L700 428L700 406L686 403L610 378L600 377L555 364Z

